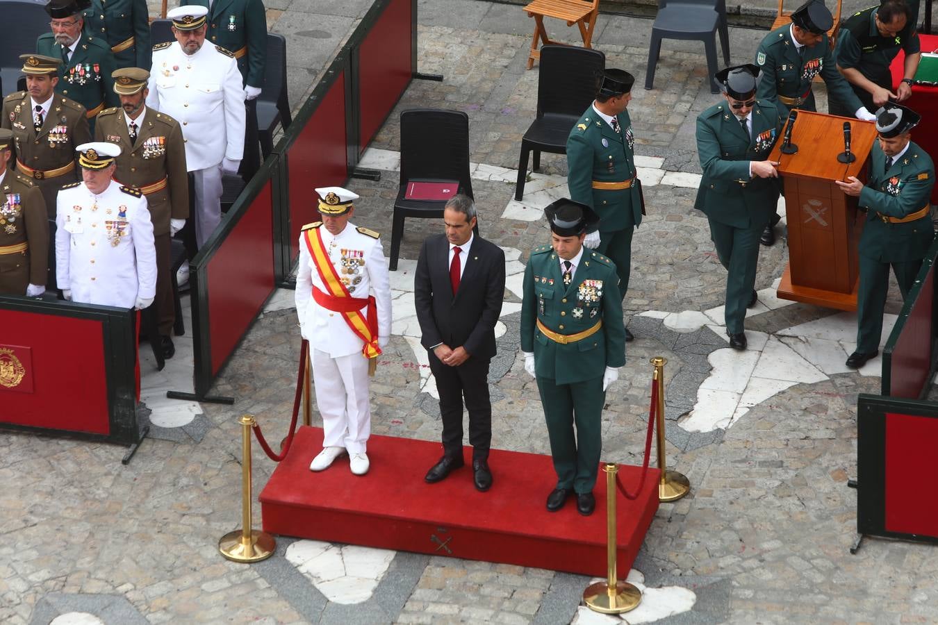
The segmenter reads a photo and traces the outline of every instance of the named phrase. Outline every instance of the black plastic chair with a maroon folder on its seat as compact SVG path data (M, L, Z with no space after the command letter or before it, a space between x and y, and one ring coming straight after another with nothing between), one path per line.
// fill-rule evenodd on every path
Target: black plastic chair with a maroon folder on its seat
M437 109L401 112L401 184L394 201L391 227L391 271L398 268L404 218L442 217L446 205L446 201L405 200L407 183L414 180L456 180L459 192L473 197L469 175L469 115Z

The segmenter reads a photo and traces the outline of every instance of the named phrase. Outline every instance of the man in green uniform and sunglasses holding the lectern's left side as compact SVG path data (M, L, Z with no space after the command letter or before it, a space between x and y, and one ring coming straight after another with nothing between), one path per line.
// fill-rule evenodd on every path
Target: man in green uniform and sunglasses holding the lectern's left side
M703 180L694 208L710 222L726 276L726 334L730 347L746 349L746 308L756 303L759 236L779 201L778 161L767 160L785 118L770 100L756 99L759 67L717 73L724 101L697 117L697 152Z

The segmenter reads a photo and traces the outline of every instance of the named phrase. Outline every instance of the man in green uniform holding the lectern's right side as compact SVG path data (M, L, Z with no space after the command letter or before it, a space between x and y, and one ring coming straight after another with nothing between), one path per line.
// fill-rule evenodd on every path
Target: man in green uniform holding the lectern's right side
M859 198L867 221L860 234L860 289L856 296L856 350L847 366L857 369L879 353L889 267L902 297L908 294L928 252L934 231L930 219L935 168L925 150L911 141L921 116L901 104L876 112L879 141L870 152L870 179L836 181L844 193Z

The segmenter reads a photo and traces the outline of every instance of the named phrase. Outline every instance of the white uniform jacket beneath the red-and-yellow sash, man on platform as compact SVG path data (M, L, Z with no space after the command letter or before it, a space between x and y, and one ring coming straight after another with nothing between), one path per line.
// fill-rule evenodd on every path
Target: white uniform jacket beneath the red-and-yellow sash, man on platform
M348 223L345 230L333 236L324 227L315 227L323 235L323 244L328 251L340 279L352 297L367 299L374 295L378 315L378 338L382 345L391 332L391 289L387 275L387 261L381 249L381 239L363 234ZM363 229L364 230L364 229ZM296 314L303 337L310 341L310 348L325 351L333 358L360 352L364 342L348 327L341 313L318 305L312 299L312 289L325 293L323 279L312 264L310 249L304 230L299 238L299 268L296 274ZM342 270L347 272L343 273ZM363 308L361 314L367 315Z

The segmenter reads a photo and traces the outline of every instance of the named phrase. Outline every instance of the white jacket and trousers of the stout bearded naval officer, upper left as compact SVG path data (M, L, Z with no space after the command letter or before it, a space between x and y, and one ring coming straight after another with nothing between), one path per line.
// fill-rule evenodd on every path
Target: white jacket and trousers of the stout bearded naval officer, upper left
M195 173L195 237L199 246L221 220L221 161L244 156L245 93L230 54L205 41L199 52L178 42L156 46L146 106L182 126L186 167Z

